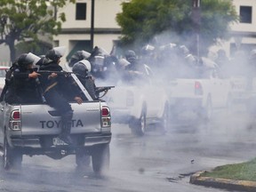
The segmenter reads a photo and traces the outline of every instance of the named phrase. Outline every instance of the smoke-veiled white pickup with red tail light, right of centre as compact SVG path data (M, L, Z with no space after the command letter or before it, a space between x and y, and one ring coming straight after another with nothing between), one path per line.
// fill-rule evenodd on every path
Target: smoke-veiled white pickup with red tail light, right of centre
M220 68L211 60L202 58L198 71L196 76L169 80L166 90L172 118L192 111L207 121L212 118L212 112L228 107L230 81L221 75Z

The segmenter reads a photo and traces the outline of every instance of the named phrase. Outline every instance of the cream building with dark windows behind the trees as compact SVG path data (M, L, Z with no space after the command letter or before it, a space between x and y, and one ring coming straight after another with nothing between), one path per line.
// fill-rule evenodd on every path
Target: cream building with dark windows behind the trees
M76 0L76 4L67 4L59 10L65 12L67 21L62 24L60 35L53 37L53 46L66 46L68 51L64 57L67 60L76 50L90 52L94 46L111 52L121 36L116 13L122 12L122 3L129 1ZM232 37L228 41L219 40L218 44L211 47L210 52L224 49L232 57L237 50L250 51L256 48L256 0L233 0L233 3L241 20L231 25ZM0 46L0 58L0 65L9 64L9 49L3 44Z

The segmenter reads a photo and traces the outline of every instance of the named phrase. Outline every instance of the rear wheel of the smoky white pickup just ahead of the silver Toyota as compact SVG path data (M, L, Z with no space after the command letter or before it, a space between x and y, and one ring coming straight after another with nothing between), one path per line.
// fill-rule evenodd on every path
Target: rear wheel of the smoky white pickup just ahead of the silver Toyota
M143 136L146 132L146 110L143 109L139 119L135 119L129 124L132 134Z

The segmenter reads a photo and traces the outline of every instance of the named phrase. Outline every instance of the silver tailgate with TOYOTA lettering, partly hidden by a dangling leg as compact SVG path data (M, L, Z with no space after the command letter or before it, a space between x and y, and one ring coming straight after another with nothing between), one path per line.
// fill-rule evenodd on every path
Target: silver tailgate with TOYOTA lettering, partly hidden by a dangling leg
M71 103L74 110L71 133L101 132L100 103ZM48 105L20 106L21 134L59 134L61 130L60 112Z

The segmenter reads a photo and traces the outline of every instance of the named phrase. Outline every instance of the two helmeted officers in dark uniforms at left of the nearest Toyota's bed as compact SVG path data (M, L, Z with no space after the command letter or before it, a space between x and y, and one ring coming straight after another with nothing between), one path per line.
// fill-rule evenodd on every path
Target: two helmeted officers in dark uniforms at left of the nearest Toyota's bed
M61 116L59 138L71 145L73 143L70 137L73 110L69 101L75 100L81 104L83 99L80 92L77 92L76 86L69 83L67 76L58 74L63 70L59 65L61 56L60 52L53 48L36 63L40 64L35 68L33 54L21 54L6 73L1 99L11 104L46 102L52 108L56 108ZM44 71L51 72L44 73ZM11 73L10 78L8 73Z

